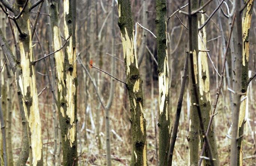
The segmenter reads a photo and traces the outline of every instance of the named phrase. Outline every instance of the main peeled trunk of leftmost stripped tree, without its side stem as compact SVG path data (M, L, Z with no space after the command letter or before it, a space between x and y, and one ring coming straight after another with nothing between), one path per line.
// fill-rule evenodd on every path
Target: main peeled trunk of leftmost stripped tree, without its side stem
M25 1L17 0L15 7L21 10ZM38 93L36 89L35 66L32 65L34 60L33 47L31 39L31 30L29 22L29 7L28 4L23 14L17 20L23 35L20 36L20 62L22 75L18 76L18 86L21 88L23 96L24 114L28 121L29 144L31 146L30 154L33 166L42 165L42 138L41 138L41 119L38 107ZM24 35L26 34L26 35Z

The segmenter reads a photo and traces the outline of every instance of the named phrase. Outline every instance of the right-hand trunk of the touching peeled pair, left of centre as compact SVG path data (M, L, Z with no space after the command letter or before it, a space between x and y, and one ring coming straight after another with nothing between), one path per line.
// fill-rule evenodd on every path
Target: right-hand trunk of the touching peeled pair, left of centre
M61 77L60 86L58 86L58 98L60 100L59 121L62 134L62 151L63 151L63 165L77 165L77 65L75 63L75 10L72 10L73 0L63 0L64 12L64 36L65 39L70 39L65 46L64 56L59 57L58 60L62 63L63 68L59 68ZM56 60L58 63L59 61ZM61 94L60 94L61 93Z

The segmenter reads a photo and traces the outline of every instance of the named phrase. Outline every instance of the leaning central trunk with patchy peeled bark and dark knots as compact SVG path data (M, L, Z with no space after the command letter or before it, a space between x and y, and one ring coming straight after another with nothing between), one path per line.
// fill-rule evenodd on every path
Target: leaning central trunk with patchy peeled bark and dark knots
M123 56L126 70L126 87L131 105L131 127L133 153L132 166L146 166L146 120L144 119L144 104L142 80L140 79L136 50L134 50L133 20L130 0L118 0L119 28L121 31Z

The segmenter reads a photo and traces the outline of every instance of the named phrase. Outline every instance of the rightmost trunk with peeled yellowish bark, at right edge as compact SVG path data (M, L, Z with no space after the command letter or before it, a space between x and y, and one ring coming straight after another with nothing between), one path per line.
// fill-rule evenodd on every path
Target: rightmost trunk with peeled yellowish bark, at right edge
M253 3L254 0L249 0L247 6L244 8L243 16L242 16L242 38L243 38L243 49L242 49L242 79L241 79L241 92L246 93L245 95L241 96L241 99L247 96L247 89L248 89L248 62L249 62L249 50L250 50L250 42L249 42L249 34L250 34L250 27L251 27L251 17L253 11ZM242 153L242 143L244 134L244 124L245 124L245 109L246 109L246 102L247 98L245 98L240 105L239 111L239 129L238 129L238 156L237 163L238 166L242 166L243 163L243 153Z

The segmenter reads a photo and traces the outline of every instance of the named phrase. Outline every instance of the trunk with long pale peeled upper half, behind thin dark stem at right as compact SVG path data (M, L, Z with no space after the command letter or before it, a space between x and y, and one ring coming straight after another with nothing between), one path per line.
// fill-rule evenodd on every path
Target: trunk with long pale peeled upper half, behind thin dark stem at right
M199 27L205 22L205 17L203 14L199 14ZM205 27L199 31L200 37L198 38L198 49L199 50L206 50L205 45L206 44L206 29ZM202 41L203 39L203 41ZM210 77L209 77L209 67L208 67L208 57L207 52L201 52L198 53L198 77L199 77L199 97L200 97L200 107L202 111L202 120L204 124L204 128L208 128L209 120L211 117L211 93L210 93ZM217 151L217 142L215 139L215 133L214 133L214 124L211 125L211 129L208 133L208 138L211 144L212 154L214 160L214 165L219 165L219 159L218 159L218 151ZM203 147L203 133L200 132L200 142L201 142L201 148ZM208 156L208 149L205 149L204 156ZM209 160L204 160L204 164L206 166L210 166Z

